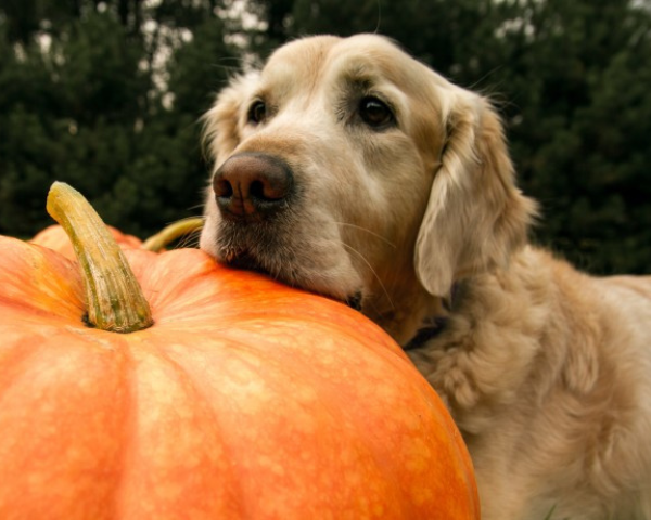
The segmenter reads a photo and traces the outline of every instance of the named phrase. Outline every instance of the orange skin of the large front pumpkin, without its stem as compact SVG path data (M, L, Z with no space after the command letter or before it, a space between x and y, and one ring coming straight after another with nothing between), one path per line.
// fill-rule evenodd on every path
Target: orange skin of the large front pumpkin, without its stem
M480 518L445 407L359 313L132 249L154 325L107 333L76 262L0 251L0 518Z

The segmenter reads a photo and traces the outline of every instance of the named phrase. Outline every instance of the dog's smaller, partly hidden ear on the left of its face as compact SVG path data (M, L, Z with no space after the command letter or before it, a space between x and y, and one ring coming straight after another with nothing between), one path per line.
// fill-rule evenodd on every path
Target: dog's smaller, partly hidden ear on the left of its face
M240 128L247 108L244 103L250 100L258 77L257 72L235 76L202 118L204 151L216 165L227 158L242 140Z

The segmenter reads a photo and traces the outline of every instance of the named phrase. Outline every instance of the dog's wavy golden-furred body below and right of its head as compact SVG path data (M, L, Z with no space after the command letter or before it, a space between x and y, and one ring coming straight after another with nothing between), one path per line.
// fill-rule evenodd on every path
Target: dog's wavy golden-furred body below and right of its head
M649 281L527 247L457 291L409 354L463 431L484 518L651 518Z

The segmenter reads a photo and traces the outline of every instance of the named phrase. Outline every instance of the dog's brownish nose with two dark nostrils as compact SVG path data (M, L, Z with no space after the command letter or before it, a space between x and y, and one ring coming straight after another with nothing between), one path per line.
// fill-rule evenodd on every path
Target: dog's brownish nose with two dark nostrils
M213 190L221 214L231 220L265 219L289 205L292 169L267 154L233 155L215 172Z

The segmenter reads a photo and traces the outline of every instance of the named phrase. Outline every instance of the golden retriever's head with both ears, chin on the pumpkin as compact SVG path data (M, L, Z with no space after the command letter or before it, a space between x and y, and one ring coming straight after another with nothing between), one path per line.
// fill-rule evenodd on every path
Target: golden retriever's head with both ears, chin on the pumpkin
M201 247L379 321L507 262L534 212L490 104L382 37L280 48L205 128Z

